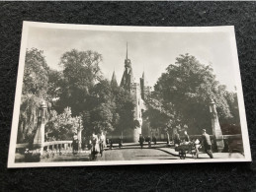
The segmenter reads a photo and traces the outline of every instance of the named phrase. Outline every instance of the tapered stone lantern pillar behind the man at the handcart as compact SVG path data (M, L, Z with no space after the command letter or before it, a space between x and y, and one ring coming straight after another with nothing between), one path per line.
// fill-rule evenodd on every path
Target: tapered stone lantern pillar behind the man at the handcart
M213 101L213 99L210 102L210 112L211 112L211 119L212 119L213 136L215 139L217 152L222 152L222 150L224 149L223 135L218 122L215 102Z

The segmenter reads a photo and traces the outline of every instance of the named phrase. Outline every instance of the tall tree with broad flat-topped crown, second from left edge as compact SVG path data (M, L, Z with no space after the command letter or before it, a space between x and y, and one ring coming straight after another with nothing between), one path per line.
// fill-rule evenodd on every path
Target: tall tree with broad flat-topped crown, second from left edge
M90 90L102 79L99 64L102 55L95 51L78 51L73 49L65 52L60 58L63 67L63 79L60 83L61 93L57 105L59 111L66 107L72 108L73 115L79 115L87 108Z

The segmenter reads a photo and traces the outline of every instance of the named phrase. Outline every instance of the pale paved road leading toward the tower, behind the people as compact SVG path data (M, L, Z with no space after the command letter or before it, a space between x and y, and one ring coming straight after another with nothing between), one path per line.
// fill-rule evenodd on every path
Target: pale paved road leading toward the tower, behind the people
M55 155L52 158L43 158L41 161L50 162L50 161L89 161L90 151L83 151L77 155L72 153ZM229 156L228 153L214 153L214 159L242 159L244 158L239 153L232 153ZM193 159L192 155L188 154L186 159ZM200 160L207 160L209 156L204 153L199 154ZM118 148L117 145L114 146L112 150L106 149L103 153L103 157L98 155L98 161L109 161L109 160L180 160L178 152L175 152L173 148L170 148L166 143L159 143L157 145L152 145L151 148L148 148L147 145L144 145L143 149L140 149L140 146L137 144L124 144L122 149ZM23 155L16 155L16 161L24 161Z

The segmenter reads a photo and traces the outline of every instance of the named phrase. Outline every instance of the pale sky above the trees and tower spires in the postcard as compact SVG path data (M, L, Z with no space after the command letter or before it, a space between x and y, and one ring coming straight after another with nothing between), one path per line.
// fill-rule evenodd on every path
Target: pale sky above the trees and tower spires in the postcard
M202 64L213 66L216 80L234 91L235 73L230 37L227 32L109 32L30 28L27 48L43 50L46 63L52 69L61 55L77 49L94 50L102 54L100 68L104 77L111 80L115 70L118 83L125 70L127 54L133 76L138 82L144 71L149 86L175 63L180 54L194 55Z

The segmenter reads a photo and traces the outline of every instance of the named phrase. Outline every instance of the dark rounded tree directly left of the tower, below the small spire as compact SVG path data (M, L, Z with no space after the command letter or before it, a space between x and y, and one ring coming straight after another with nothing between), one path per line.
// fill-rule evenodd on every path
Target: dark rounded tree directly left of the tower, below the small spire
M91 90L86 111L83 112L85 134L115 132L121 134L133 128L132 99L123 88L112 87L108 80L101 80Z

